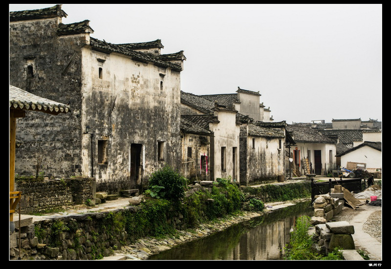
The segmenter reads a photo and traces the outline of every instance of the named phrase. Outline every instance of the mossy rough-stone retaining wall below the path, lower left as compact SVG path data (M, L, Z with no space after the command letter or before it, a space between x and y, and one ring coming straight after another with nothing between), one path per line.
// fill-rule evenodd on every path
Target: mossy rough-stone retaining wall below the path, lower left
M10 260L93 260L128 244L124 227L111 227L111 212L47 218L10 232ZM32 218L31 218L32 219ZM20 244L20 245L19 245ZM19 247L20 246L20 247Z

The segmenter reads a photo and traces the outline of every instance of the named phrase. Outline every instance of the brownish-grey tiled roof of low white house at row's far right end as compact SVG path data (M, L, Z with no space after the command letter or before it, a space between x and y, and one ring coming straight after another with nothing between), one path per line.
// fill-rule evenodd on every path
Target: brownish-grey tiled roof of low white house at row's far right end
M292 135L296 143L336 144L335 140L322 135L319 131L307 125L288 124L286 130Z

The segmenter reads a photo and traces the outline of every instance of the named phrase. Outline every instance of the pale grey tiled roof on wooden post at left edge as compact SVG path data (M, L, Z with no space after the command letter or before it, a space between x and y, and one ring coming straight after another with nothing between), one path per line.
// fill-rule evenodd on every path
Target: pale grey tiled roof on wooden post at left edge
M9 85L9 107L51 114L67 113L70 109L66 104L36 96L12 85Z

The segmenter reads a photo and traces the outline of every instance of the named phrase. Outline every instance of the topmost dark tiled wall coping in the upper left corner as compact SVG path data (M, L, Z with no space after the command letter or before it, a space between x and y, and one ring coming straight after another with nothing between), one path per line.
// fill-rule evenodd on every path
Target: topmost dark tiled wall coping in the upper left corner
M67 14L61 9L61 5L55 5L34 10L11 11L9 13L9 21L25 21L66 16Z

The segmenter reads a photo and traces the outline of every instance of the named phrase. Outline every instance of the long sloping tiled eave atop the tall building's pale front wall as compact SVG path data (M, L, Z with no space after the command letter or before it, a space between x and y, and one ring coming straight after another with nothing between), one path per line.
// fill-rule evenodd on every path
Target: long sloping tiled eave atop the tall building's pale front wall
M159 56L154 56L150 53L144 53L140 51L135 51L128 48L126 45L122 44L112 44L108 43L105 40L97 40L95 38L90 38L90 45L96 50L103 51L106 53L116 52L119 54L124 54L130 56L134 61L139 62L152 62L157 66L161 66L164 68L171 68L175 71L182 71L182 67L179 64L173 62L165 62L163 61L164 56L160 58ZM164 59L166 60L166 59Z

